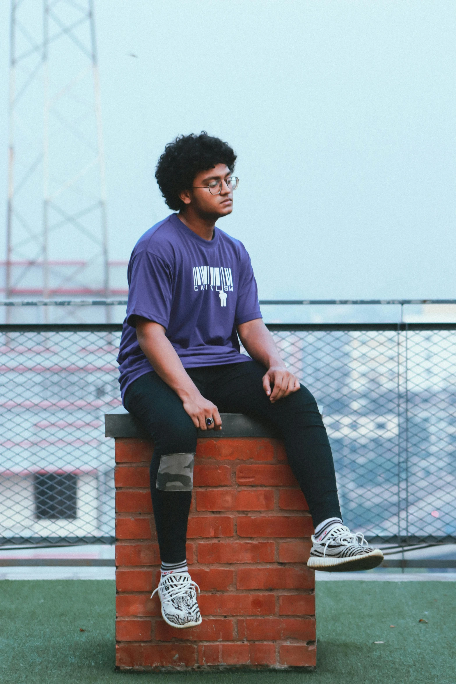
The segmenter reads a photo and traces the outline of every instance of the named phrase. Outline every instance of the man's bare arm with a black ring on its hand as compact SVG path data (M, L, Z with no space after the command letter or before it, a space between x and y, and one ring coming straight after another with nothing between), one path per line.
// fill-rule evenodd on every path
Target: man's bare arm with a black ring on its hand
M196 428L207 430L206 418L212 418L215 430L222 428L217 406L204 399L191 380L173 345L165 336L165 328L159 323L137 316L136 337L155 372L176 392Z

